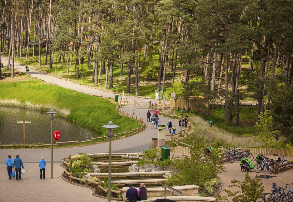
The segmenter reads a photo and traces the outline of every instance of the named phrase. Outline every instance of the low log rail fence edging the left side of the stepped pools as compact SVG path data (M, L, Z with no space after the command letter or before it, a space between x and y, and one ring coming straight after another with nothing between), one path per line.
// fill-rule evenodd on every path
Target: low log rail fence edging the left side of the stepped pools
M66 162L66 159L68 159L68 162ZM62 164L63 165L64 164L67 165L68 166L68 169L70 170L70 166L71 166L71 155L68 155L67 157L63 157L62 158ZM92 183L92 184L97 185L99 191L102 190L102 191L108 193L108 188L105 189L104 187L102 187L102 181L101 180L99 180L98 182L96 182L96 181L93 181L93 180L88 179L88 176L86 176L86 178L83 178L83 179L74 177L74 176L72 176L73 175L72 172L68 172L67 171L67 167L63 170L63 173L64 173L64 176L65 177L68 175L69 181L71 181L71 182L72 182L72 180L82 181L83 183L86 184L86 186L88 186L88 183ZM120 189L119 191L117 191L117 190L111 190L111 192L112 193L119 194L119 199L122 199L122 189ZM115 198L113 198L113 199L115 199Z

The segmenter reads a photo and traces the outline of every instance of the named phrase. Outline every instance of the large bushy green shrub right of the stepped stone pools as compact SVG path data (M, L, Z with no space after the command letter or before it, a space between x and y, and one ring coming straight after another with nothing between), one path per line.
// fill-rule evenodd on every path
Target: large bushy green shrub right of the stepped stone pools
M190 148L190 156L176 157L172 161L172 166L178 169L178 174L173 174L167 178L167 184L176 185L198 185L201 189L209 189L208 185L214 185L218 174L224 171L224 166L219 164L219 154L211 152L207 161L200 159L203 154L203 145L201 141L195 143ZM213 180L214 183L207 183ZM209 191L209 190L208 190Z

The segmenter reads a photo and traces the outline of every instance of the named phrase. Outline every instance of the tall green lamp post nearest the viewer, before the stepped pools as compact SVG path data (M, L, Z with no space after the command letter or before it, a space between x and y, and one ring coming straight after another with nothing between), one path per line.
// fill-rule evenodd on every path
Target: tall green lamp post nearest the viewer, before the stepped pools
M112 137L113 137L113 128L118 128L119 126L114 125L112 121L109 121L107 125L102 126L103 128L108 128L108 136L109 136L109 174L108 174L108 201L111 201L111 188L112 188Z

